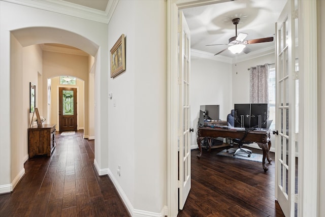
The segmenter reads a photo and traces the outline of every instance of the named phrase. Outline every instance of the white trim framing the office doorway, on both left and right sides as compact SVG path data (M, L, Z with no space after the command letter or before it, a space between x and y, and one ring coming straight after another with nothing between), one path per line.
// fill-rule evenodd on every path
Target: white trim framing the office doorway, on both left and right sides
M210 5L216 3L228 2L224 0L168 0L167 1L167 82L168 82L168 102L167 102L167 118L168 118L168 216L177 216L178 213L178 159L177 159L177 108L178 108L178 96L177 96L177 33L178 33L178 10L183 8L198 7L203 5ZM304 105L300 109L300 134L299 134L299 193L298 199L299 215L303 213L315 213L317 216L319 210L318 204L318 165L315 158L315 150L318 150L318 137L317 131L317 118L314 116L317 114L317 11L316 0L312 1L298 1L298 17L299 24L299 38L310 39L312 34L314 40L301 40L299 42L299 57L300 57L300 81L299 92L303 93L300 96L300 105ZM312 15L312 16L311 16ZM304 20L304 22L302 22ZM312 70L311 70L312 69ZM308 72L308 77L304 76L304 72ZM310 77L309 77L310 76ZM305 88L305 87L308 88ZM305 90L308 89L308 92ZM306 96L306 97L305 97ZM315 96L315 97L308 97ZM309 112L307 116L305 111ZM310 126L309 130L303 126ZM314 128L315 127L315 128ZM304 149L304 141L311 144ZM312 141L312 142L310 142ZM305 143L306 144L306 143ZM306 152L305 152L306 151ZM305 172L305 174L304 174ZM308 173L307 173L308 172ZM306 176L308 174L308 176ZM303 177L308 177L303 179ZM310 189L310 186L313 186ZM304 188L308 187L308 188ZM307 191L308 189L308 191Z

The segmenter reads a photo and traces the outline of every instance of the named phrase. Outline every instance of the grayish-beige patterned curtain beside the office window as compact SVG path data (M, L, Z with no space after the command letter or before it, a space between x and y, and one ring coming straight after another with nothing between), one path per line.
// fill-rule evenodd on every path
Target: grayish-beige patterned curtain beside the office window
M250 68L249 103L269 103L269 64Z

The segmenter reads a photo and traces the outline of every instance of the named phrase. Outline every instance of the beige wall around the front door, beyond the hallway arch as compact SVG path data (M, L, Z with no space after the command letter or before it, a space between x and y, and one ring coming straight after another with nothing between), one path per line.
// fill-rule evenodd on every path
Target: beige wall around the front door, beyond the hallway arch
M58 121L58 101L57 92L59 86L75 87L74 85L59 85L60 75L74 76L78 86L78 129L84 130L84 138L89 137L89 66L88 56L72 55L57 52L43 52L43 83L51 80L51 104L47 104L47 95L43 95L44 113L50 115L48 123L56 123L59 130ZM84 91L86 90L86 91ZM47 85L43 86L43 92L47 92ZM93 128L93 126L91 127ZM91 135L92 136L92 135Z

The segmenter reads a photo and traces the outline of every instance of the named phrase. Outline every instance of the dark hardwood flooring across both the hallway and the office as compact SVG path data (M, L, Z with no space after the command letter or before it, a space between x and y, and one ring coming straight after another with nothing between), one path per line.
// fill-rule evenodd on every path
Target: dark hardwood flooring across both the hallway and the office
M14 192L0 195L0 216L129 216L109 177L95 171L94 141L82 131L56 141L50 158L27 160ZM217 156L222 149L200 160L192 150L192 187L178 217L284 216L274 199L274 163L264 173L262 163Z

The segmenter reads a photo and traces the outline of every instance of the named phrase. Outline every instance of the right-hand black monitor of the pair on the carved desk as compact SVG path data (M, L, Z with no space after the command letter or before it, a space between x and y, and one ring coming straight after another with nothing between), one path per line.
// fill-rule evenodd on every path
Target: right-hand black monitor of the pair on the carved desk
M259 126L259 118L261 126ZM268 104L252 103L250 104L250 128L267 128Z

